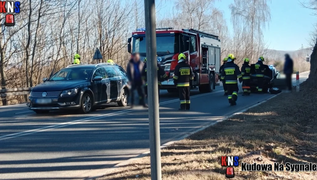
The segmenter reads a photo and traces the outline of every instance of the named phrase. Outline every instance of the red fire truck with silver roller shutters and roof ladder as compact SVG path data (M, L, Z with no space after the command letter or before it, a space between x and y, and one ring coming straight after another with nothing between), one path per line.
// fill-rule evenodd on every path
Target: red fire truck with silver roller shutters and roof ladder
M173 73L178 63L179 53L186 55L186 62L194 73L194 89L208 93L218 86L220 68L220 39L218 36L194 29L173 30L173 28L156 29L157 60L165 69L169 79L162 82L161 89L175 92ZM142 59L146 57L145 29L137 29L128 39L129 53L139 52ZM216 84L217 83L217 84Z

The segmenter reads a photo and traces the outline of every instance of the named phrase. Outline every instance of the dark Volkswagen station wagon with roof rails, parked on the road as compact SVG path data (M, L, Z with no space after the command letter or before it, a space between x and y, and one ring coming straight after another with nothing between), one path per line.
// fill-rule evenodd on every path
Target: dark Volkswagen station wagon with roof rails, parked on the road
M117 102L123 107L128 103L128 78L116 64L70 65L43 81L33 87L27 104L37 114L59 109L89 113L100 104Z

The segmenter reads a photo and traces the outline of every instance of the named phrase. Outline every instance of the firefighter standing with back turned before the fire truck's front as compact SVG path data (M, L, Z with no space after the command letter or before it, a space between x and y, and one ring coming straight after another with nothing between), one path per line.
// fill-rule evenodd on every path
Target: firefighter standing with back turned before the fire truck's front
M191 105L189 91L193 85L194 76L191 66L186 64L186 56L183 53L178 55L173 79L179 92L180 108L178 110L189 110Z

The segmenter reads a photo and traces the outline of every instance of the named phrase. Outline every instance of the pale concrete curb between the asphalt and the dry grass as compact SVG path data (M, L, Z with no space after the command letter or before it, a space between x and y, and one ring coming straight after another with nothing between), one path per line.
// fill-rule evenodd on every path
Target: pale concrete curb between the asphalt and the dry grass
M283 92L281 92L281 93L283 93ZM272 96L272 97L270 97L270 98L268 98L268 99L266 99L266 100L262 100L261 102L258 102L257 104L255 104L255 105L253 105L253 106L247 107L247 108L245 108L245 109L243 109L243 110L241 110L241 111L239 111L239 112L237 112L237 113L234 113L234 114L231 114L231 115L229 115L229 116L220 118L220 119L217 120L216 122L212 122L212 123L210 123L210 124L208 124L208 125L206 125L206 126L204 126L204 127L201 127L201 128L199 128L199 129L197 129L197 130L195 130L195 131L193 131L193 132L191 132L191 133L189 133L189 134L180 136L180 137L174 139L173 141L166 142L165 144L161 145L161 149L163 149L163 148L165 148L165 147L167 147L167 146L170 146L170 145L174 144L175 142L178 142L178 141L180 141L180 140L183 140L183 139L189 137L190 135L193 135L193 134L195 134L195 133L197 133L197 132L199 132L199 131L202 131L202 130L204 130L204 129L206 129L206 128L209 128L210 126L213 126L213 125L217 124L218 122L228 120L229 118L231 118L231 117L233 117L233 116L235 116L235 115L237 115L237 114L242 114L242 113L248 111L249 109L251 109L251 108L253 108L253 107L256 107L256 106L258 106L258 105L260 105L260 104L262 104L262 103L264 103L264 102L266 102L266 101L268 101L268 100L270 100L270 99L272 99L272 98L275 98L276 96L280 95L281 93L275 94L274 96ZM107 175L107 173L110 173L112 170L114 170L114 169L116 169L116 168L119 168L120 166L125 166L125 165L131 163L132 161L137 160L137 159L140 159L140 158L145 157L145 156L148 156L149 154L150 154L150 151L146 151L146 152L144 152L144 153L142 153L142 154L140 154L140 155L138 155L138 156L136 156L136 157L130 158L130 159L126 160L126 161L123 161L123 162L121 162L121 163L119 163L119 164L116 164L116 165L113 166L112 168L108 168L108 169L103 173L103 175L101 175L101 176L88 177L88 178L86 178L86 179L84 179L84 180L94 180L94 179L103 177L103 176Z

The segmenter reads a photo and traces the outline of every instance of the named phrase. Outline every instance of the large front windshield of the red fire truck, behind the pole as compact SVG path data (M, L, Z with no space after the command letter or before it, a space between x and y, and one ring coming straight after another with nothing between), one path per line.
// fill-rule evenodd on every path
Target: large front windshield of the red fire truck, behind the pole
M158 54L174 54L178 52L178 43L176 43L175 36L157 36L156 37L156 51ZM141 54L146 53L146 38L133 38L133 52Z

